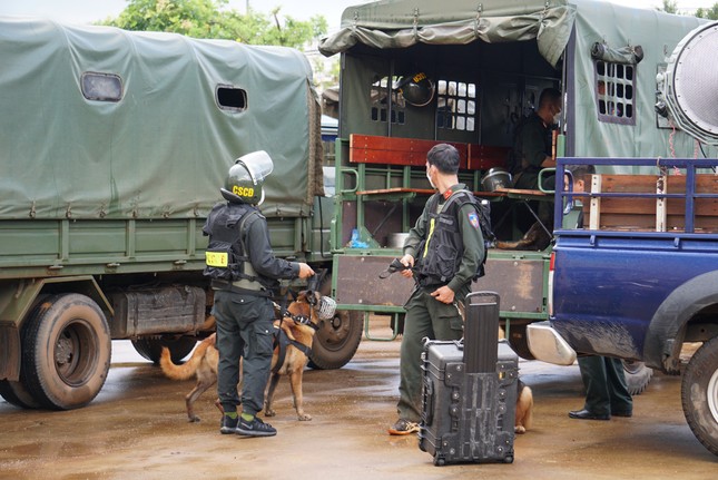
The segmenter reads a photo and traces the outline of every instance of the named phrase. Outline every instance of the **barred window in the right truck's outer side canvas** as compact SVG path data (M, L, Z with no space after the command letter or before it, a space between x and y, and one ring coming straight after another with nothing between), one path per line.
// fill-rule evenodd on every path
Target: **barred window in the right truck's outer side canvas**
M596 105L599 121L636 125L636 67L596 60Z

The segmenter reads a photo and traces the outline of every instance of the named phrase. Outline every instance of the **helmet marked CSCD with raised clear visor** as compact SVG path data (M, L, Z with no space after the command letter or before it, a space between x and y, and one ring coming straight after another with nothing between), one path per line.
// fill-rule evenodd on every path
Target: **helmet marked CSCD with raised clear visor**
M220 188L222 196L234 203L262 205L264 202L264 179L274 169L269 155L264 151L253 151L235 160L229 168L225 187Z

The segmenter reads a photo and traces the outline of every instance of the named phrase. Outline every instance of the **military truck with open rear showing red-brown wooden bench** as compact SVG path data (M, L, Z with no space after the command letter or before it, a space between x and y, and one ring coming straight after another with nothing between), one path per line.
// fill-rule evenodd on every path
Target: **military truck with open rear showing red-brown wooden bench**
M338 304L366 314L370 336L368 313L392 315L392 336L400 332L413 283L380 274L401 256L403 235L432 193L425 154L437 143L460 150L460 180L489 202L498 238L521 238L538 202L553 195L510 184L493 188L490 174L508 167L515 127L547 87L563 94L559 157L700 154L656 106L667 57L704 22L597 0L393 0L347 8L342 29L319 47L342 56L340 208L332 229L332 244L340 246L333 276ZM500 293L502 324L525 359L533 359L527 325L548 319L550 253L550 245L491 248L486 275L474 284ZM627 369L637 373L632 390L640 391L650 371Z

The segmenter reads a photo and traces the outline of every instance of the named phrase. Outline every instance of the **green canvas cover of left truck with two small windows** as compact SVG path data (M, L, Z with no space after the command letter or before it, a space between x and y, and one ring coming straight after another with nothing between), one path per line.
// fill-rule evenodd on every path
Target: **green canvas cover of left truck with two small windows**
M203 217L259 149L275 166L265 215L307 215L321 194L297 50L0 18L0 219Z

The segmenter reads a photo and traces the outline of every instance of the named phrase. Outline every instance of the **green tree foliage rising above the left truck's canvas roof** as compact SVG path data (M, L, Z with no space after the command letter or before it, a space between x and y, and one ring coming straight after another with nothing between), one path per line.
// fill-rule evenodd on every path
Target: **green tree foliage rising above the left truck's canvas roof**
M275 8L267 17L249 9L227 9L227 0L128 0L117 18L101 25L125 30L169 31L195 38L301 48L327 31L323 16L299 21Z

